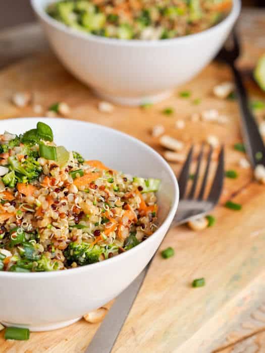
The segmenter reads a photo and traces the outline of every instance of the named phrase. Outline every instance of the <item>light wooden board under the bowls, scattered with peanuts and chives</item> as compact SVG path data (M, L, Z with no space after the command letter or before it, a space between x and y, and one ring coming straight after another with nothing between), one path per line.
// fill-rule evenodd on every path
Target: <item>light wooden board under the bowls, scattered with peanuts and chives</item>
M241 17L244 55L240 66L252 99L265 101L264 93L249 74L257 57L265 52L264 36L261 37L265 33L264 18L261 10L245 12ZM150 134L156 124L164 125L167 134L182 140L185 150L191 143L199 145L208 135L216 135L226 146L226 169L238 171L236 180L225 181L220 205L213 212L217 218L215 226L201 232L181 226L168 233L161 249L171 246L175 256L164 260L158 251L113 348L115 353L220 351L265 326L264 322L255 325L252 320L252 326L249 323L249 315L260 309L265 294L265 186L253 181L250 169L238 165L243 154L233 149L233 144L241 141L236 101L220 100L211 93L216 84L227 80L231 80L229 69L211 64L164 102L149 109L116 106L108 114L98 111L99 100L67 73L49 51L31 55L0 72L1 119L36 116L32 105L19 109L11 103L14 93L29 91L33 93L34 103L41 104L45 110L52 103L67 102L72 119L116 128L161 153L164 150L158 139ZM191 97L181 98L182 90L189 90ZM192 103L196 98L201 99L198 105ZM173 107L174 114L163 115L165 107ZM226 115L228 123L191 122L192 113L211 108ZM259 112L257 119L261 120L264 113ZM183 130L175 128L177 120L185 121ZM71 141L67 147L71 148ZM181 165L172 164L172 167L178 173ZM236 212L223 207L229 199L241 203L242 210ZM192 280L198 277L204 277L206 285L192 288ZM64 329L31 333L26 342L5 341L1 332L0 351L81 353L97 328L98 325L81 320ZM232 352L231 347L224 352Z

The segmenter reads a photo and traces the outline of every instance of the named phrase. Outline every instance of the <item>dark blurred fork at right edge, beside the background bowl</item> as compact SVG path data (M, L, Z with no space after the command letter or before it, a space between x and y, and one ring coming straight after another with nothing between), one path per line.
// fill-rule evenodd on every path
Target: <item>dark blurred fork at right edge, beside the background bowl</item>
M228 44L229 48L227 47ZM243 140L250 162L252 166L255 167L257 164L265 165L265 147L262 137L259 134L255 118L249 108L248 95L244 87L240 72L236 68L236 61L239 56L240 43L234 28L229 37L229 41L220 50L216 58L217 60L228 64L233 72L241 112L241 128Z

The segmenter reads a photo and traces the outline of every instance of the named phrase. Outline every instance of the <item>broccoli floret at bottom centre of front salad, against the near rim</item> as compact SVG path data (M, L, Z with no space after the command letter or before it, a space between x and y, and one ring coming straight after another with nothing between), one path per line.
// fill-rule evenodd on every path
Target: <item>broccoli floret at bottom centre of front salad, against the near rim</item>
M88 265L99 261L101 254L105 255L105 248L98 245L91 247L85 243L70 243L64 255L69 264L76 262L78 265Z

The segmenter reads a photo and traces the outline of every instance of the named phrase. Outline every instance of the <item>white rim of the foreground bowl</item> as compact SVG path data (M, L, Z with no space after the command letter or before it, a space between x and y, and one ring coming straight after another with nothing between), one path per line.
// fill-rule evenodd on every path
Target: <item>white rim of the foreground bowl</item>
M89 264L89 265L84 265L84 266L80 266L80 267L76 267L76 268L70 268L70 269L66 269L66 270L58 270L58 271L50 271L50 272L9 272L9 271L0 271L0 279L4 279L4 278L35 278L36 277L54 277L54 276L67 276L67 275L71 275L74 273L82 273L82 272L86 272L86 271L91 271L93 269L96 269L97 267L101 266L108 266L109 261L111 261L111 263L117 262L117 261L122 261L123 258L125 258L125 256L130 256L133 255L133 252L136 253L137 248L138 247L144 247L147 246L146 244L149 244L150 242L153 241L154 237L158 236L158 232L162 227L165 227L166 223L169 222L169 220L175 215L176 211L177 211L177 207L178 207L178 203L179 203L179 185L177 182L177 178L176 175L174 174L171 166L166 162L166 160L158 153L156 152L153 148L151 148L150 146L148 146L147 144L145 144L144 142L136 139L133 136L130 136L126 133L123 133L119 130L113 129L113 128L109 128L103 125L99 125L99 124L94 124L94 123L90 123L90 122L86 122L86 121L80 121L80 120L74 120L74 119L64 119L64 118L48 118L48 117L19 117L19 118L11 118L11 119L3 119L1 122L10 122L13 124L16 124L16 122L18 120L27 120L27 121L32 121L32 123L36 123L36 121L42 121L45 122L47 124L49 123L53 123L53 122L57 122L60 121L62 123L74 123L74 124L78 124L80 126L91 126L93 128L97 128L97 129L101 129L101 130L105 130L105 131L109 131L111 133L117 134L119 136L123 136L128 140L131 140L132 142L141 145L142 147L144 147L146 150L148 150L149 152L151 152L152 154L154 154L158 160L161 161L164 170L169 174L169 176L172 179L172 184L173 184L173 188L174 188L174 196L173 196L173 202L170 205L170 210L166 216L166 218L164 219L164 221L162 222L162 224L157 228L157 230L155 230L152 234L151 237L149 237L148 239L146 239L144 242L140 243L139 245L137 245L137 247L134 247L133 249L130 249L127 252L124 252L122 254L119 254L118 256L115 256L111 259L107 259L108 261L100 261L100 262L96 262L93 264ZM170 223L171 224L171 223ZM138 248L139 249L139 248ZM129 254L129 255L128 255Z

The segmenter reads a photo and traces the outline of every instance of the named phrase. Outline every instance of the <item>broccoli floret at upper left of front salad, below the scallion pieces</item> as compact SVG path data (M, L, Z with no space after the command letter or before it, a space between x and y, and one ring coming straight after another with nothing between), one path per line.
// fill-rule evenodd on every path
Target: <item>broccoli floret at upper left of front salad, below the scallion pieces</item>
M28 157L24 162L20 162L15 156L8 158L9 168L15 171L19 182L32 182L39 177L42 167L33 157ZM26 178L25 178L26 177Z

